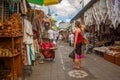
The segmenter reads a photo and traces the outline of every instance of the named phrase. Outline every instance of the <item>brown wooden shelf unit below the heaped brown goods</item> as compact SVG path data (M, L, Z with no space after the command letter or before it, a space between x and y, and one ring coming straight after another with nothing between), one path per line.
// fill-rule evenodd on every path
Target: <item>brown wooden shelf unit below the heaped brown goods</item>
M0 79L18 80L22 77L22 37L3 36L0 37ZM9 74L2 73L8 71Z

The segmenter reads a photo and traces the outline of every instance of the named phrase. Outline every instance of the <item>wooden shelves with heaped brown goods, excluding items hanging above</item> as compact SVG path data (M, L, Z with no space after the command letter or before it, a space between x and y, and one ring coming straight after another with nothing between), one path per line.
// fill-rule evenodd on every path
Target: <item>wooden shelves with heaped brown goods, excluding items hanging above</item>
M0 80L18 80L21 77L22 27L19 13L11 15L3 23L0 21Z

